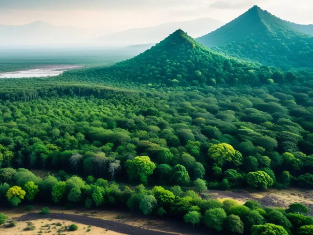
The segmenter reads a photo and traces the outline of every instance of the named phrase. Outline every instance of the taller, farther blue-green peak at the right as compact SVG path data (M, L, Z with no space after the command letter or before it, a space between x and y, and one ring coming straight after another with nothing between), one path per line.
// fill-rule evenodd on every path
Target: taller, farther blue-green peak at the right
M197 40L218 52L284 70L313 67L313 38L258 6Z

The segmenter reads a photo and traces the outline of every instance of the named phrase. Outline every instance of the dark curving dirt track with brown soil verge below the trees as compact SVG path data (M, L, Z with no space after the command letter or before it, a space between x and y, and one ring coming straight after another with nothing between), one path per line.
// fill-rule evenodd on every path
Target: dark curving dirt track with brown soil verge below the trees
M13 218L16 221L51 218L53 220L73 221L75 224L82 223L86 226L91 225L92 227L101 227L114 232L131 235L208 234L208 229L204 231L200 226L195 226L195 229L193 229L191 224L186 224L169 217L162 219L160 217L143 216L141 214L119 210L64 210L57 206L49 206L50 213L48 215L40 215L38 212L41 211L42 207L34 206L34 209L30 212L23 211L21 208L1 210L1 212L6 214L9 219ZM212 231L209 234L215 235L216 232Z

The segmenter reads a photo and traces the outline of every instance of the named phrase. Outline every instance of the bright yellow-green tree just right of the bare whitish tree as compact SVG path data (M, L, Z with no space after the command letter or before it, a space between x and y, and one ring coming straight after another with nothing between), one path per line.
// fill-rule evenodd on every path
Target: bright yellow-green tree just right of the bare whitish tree
M148 156L135 157L133 160L127 160L125 163L130 180L140 178L141 182L146 183L148 176L152 175L156 165L151 162Z

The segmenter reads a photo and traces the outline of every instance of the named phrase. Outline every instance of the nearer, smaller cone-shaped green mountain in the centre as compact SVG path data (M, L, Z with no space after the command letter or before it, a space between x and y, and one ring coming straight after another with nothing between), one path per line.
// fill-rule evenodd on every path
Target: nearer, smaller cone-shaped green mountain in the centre
M171 86L254 84L266 82L269 67L227 57L210 50L181 29L136 57L95 72L107 80ZM151 85L150 85L151 84Z

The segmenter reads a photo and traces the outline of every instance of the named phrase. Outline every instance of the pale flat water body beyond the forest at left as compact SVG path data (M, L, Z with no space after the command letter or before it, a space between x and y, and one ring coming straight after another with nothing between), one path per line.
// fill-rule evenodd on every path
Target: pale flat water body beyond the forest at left
M0 73L0 78L48 77L56 76L64 71L82 68L79 65L41 65L37 68Z

